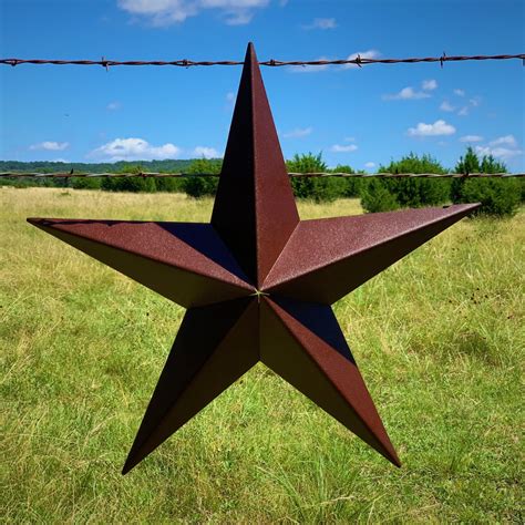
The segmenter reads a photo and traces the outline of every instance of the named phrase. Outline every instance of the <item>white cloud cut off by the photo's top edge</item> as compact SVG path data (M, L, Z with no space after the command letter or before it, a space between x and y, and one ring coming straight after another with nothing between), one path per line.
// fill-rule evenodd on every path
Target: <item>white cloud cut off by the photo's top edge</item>
M268 3L269 0L117 0L122 10L157 27L184 22L206 9L218 10L229 25L241 25L251 21L256 9Z

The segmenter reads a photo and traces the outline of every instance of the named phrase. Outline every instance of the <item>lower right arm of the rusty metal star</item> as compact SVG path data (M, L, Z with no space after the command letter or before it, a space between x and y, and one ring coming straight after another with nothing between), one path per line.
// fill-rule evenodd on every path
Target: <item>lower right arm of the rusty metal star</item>
M259 341L267 367L401 466L329 306L264 297Z

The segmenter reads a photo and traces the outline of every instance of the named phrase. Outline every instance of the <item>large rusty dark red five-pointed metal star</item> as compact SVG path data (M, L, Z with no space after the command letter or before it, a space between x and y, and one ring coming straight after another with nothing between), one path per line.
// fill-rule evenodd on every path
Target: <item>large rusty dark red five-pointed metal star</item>
M249 44L210 224L28 220L187 308L123 473L258 361L399 466L330 305L475 206L300 220Z

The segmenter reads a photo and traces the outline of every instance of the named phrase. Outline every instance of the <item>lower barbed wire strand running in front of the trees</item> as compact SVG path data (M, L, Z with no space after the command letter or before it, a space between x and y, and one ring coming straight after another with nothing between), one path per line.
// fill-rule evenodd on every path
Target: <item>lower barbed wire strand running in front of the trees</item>
M192 178L192 177L218 177L218 173L158 173L158 172L138 172L138 173L75 173L55 172L55 173L37 173L37 172L2 172L0 178ZM290 172L288 176L291 178L309 178L309 177L341 177L341 178L502 178L502 177L525 177L525 173L343 173L343 172L316 172L316 173L296 173Z

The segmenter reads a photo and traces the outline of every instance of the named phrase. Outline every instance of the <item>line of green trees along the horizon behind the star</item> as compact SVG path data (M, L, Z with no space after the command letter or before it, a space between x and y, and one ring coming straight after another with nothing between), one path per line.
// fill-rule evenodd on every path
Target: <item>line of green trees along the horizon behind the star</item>
M338 165L329 168L321 153L313 155L296 154L287 161L289 172L297 173L354 173L351 166ZM59 166L58 166L59 165ZM18 186L43 185L73 187L78 189L103 189L109 192L179 192L193 198L215 195L220 174L222 159L199 158L194 161L150 161L141 163L120 162L115 164L63 164L63 163L18 163L0 162L1 171L54 171L78 172L184 172L188 174L215 173L217 177L187 178L82 178L72 175L69 178L2 179L2 184ZM431 155L421 156L410 153L389 165L381 165L379 172L385 173L435 173L447 172ZM454 167L456 173L502 173L506 172L504 163L492 155L480 157L472 147ZM364 172L361 172L364 173ZM337 198L360 198L366 212L387 212L403 207L436 206L447 203L481 202L478 214L512 216L525 202L525 181L523 178L344 178L344 177L305 177L292 178L291 185L297 198L312 199L318 203Z

